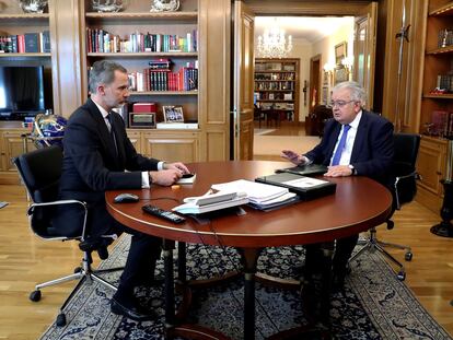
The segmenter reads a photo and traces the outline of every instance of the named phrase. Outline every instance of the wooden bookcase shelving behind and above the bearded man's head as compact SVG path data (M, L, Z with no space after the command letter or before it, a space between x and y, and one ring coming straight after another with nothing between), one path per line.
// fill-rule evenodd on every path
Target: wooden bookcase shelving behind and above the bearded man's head
M84 21L81 25L82 60L84 79L83 89L88 94L88 72L91 65L101 59L112 59L121 63L129 73L141 72L149 69L149 61L170 59L172 71L177 72L187 65L198 65L198 48L193 51L119 51L103 52L89 51L88 30L103 30L123 39L130 39L132 34L178 35L186 37L189 33L198 33L198 1L182 1L176 12L150 12L149 1L130 1L127 7L116 13L93 12L91 1L84 3ZM197 34L196 34L197 36ZM199 39L196 38L199 46ZM193 43L193 42L191 42ZM190 44L193 46L193 44ZM198 72L198 70L197 70ZM148 78L149 79L149 78ZM132 91L130 103L152 102L156 104L158 121L163 121L162 107L182 106L185 121L198 122L198 86L191 91Z

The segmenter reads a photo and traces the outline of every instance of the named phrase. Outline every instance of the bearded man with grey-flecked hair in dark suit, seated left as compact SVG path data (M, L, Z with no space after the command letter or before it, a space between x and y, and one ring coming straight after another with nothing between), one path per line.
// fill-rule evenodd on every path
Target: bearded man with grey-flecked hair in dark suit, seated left
M129 97L127 70L112 61L97 61L90 71L91 97L70 117L63 138L61 199L78 199L89 206L88 224L92 237L109 234L132 235L129 255L111 307L115 314L135 320L152 318L138 304L133 290L152 283L162 241L116 222L105 207L105 191L169 186L188 173L183 163L165 163L136 152L126 134L121 117L112 112ZM81 212L60 209L56 223L68 235L80 233Z

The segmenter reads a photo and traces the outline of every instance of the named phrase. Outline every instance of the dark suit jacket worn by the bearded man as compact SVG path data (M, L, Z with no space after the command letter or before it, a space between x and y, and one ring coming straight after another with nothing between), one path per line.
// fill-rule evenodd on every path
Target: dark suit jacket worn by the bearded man
M114 223L105 208L106 190L139 189L141 172L158 169L158 160L136 152L121 117L113 118L118 155L105 120L91 99L72 114L65 130L60 199L88 202L91 234L108 233ZM80 216L76 208L59 209L55 223L69 235L78 234Z

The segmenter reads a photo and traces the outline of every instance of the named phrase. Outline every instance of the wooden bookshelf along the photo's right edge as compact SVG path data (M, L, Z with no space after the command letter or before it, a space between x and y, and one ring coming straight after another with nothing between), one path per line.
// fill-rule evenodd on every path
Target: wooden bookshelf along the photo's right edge
M453 136L453 1L429 0L420 96L422 133L418 201L439 212L445 178L446 139Z

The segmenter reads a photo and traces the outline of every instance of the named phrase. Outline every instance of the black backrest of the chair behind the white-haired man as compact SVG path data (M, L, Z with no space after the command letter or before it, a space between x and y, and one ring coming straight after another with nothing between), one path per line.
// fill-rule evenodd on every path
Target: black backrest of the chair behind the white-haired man
M395 133L394 134L394 166L396 209L403 203L410 202L417 194L416 163L418 149L420 146L420 134Z

